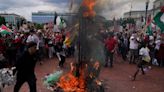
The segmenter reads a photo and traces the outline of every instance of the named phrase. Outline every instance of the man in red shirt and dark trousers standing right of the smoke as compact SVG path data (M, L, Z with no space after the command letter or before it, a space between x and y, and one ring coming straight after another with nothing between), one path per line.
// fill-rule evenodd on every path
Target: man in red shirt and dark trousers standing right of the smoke
M106 64L105 67L108 66L108 61L109 61L109 57L110 57L110 67L113 67L113 54L115 52L115 47L116 47L117 41L114 38L113 35L110 35L107 40L105 41L105 46L107 48L107 57L106 57Z

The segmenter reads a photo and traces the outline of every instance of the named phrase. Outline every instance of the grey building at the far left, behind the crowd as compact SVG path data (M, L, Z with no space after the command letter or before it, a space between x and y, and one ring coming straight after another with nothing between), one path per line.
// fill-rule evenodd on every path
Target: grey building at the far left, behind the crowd
M0 16L5 18L6 25L9 25L11 29L18 29L21 26L22 21L25 20L24 17L17 14L2 13Z

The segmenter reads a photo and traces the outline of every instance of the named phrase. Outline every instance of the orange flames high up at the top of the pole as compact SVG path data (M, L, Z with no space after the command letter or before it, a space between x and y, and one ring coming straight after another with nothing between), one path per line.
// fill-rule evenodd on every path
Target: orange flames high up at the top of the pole
M82 5L86 8L83 13L84 17L94 17L96 15L96 12L94 11L96 0L83 0Z

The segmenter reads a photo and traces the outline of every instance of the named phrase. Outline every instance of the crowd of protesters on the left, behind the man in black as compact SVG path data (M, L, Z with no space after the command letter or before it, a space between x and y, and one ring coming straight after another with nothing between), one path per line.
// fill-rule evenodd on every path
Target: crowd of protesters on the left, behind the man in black
M10 34L0 34L0 68L12 67L17 59L27 50L30 42L37 44L36 59L43 63L46 58L58 57L62 67L65 57L73 55L73 46L67 44L66 31L54 32L49 29L35 27L20 29Z

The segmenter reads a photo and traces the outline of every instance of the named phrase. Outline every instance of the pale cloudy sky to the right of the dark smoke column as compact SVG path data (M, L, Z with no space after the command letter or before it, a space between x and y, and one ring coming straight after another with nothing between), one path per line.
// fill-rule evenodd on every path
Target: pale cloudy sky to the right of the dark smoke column
M145 10L147 0L97 0L96 12L107 19L123 17L124 12L132 10ZM149 9L152 9L153 1L149 0Z

